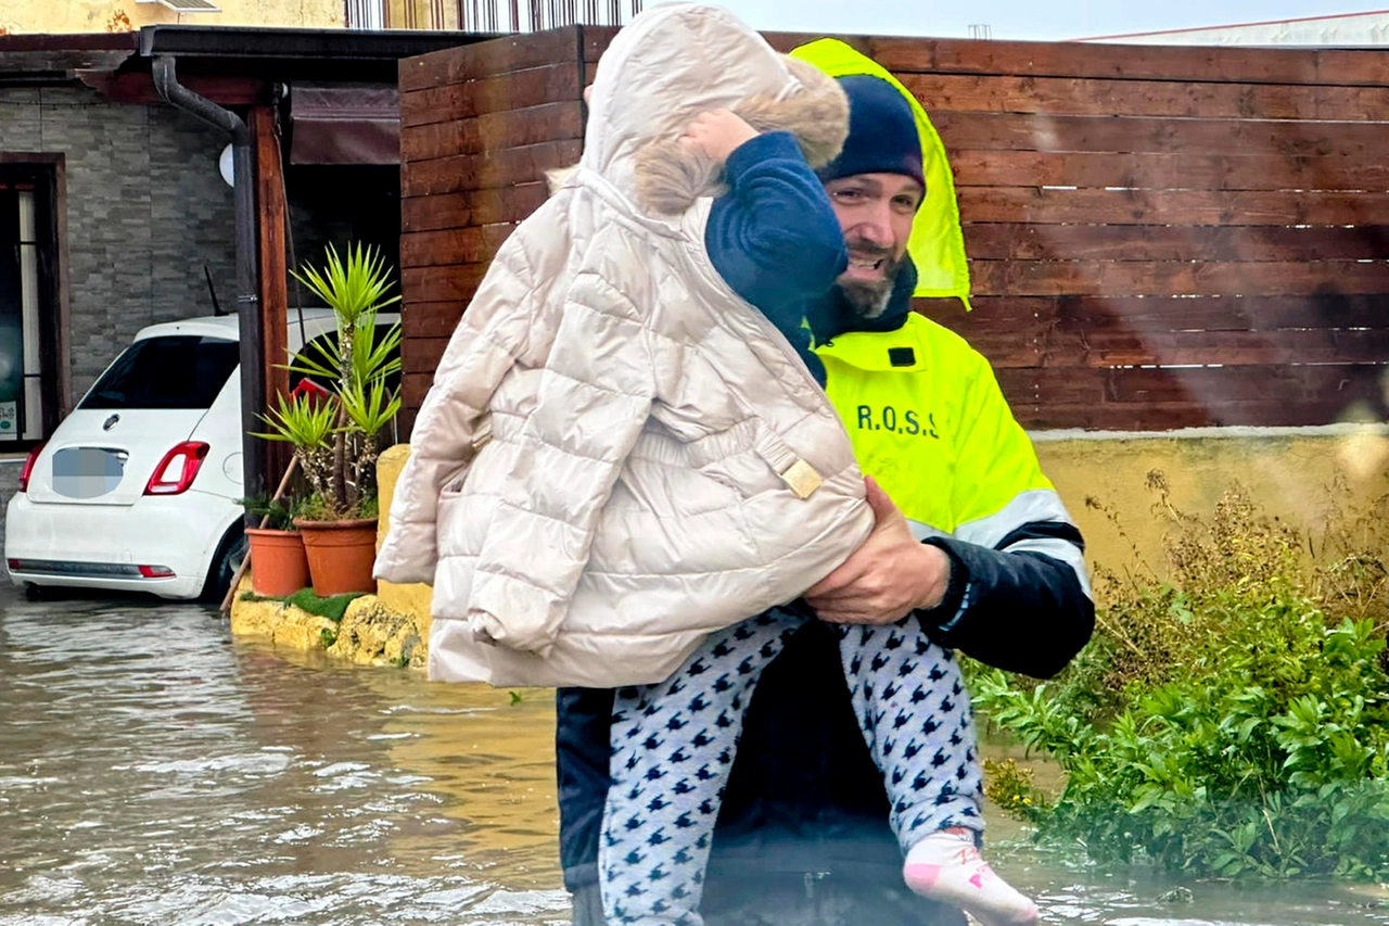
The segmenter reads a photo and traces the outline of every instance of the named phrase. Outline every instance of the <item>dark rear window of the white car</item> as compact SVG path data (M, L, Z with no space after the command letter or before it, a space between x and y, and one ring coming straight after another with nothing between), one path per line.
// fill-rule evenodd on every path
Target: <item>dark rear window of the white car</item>
M83 409L207 409L236 370L240 345L218 338L146 338L125 349Z

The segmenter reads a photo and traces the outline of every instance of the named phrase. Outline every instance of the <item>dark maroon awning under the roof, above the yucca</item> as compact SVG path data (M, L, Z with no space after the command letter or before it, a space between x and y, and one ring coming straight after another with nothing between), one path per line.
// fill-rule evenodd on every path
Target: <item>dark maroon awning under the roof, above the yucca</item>
M390 83L292 83L290 164L399 164L400 93Z

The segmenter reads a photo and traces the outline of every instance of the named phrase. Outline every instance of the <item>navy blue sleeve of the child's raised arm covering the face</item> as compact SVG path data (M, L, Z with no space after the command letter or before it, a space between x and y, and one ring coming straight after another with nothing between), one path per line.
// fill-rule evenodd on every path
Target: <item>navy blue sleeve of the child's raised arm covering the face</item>
M829 196L789 132L740 145L724 165L728 193L714 200L704 229L710 260L801 356L810 352L806 303L829 292L849 267ZM824 381L818 360L811 371Z

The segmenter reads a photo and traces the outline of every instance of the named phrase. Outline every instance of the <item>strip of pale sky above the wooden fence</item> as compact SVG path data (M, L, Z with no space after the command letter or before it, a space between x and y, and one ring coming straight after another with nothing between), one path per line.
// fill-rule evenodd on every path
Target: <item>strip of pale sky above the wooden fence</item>
M720 0L754 29L1056 42L1389 10L1389 0ZM644 6L654 6L646 3Z

